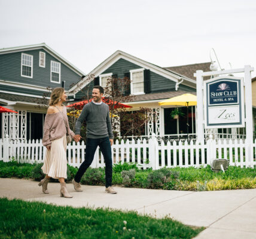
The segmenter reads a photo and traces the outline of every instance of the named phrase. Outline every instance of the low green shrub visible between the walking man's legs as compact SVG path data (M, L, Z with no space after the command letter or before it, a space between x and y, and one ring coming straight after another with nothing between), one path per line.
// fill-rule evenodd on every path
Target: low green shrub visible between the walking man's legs
M87 168L86 173L84 173L81 178L82 184L87 185L102 185L105 182L102 182L102 171L99 168Z

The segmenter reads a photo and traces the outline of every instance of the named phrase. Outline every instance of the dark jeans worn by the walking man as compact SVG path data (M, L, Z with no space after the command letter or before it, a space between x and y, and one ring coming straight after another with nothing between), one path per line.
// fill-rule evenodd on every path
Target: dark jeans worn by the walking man
M105 160L105 174L106 174L106 188L112 185L112 156L111 156L111 145L109 142L109 137L104 137L100 139L86 139L86 156L83 164L75 175L75 182L80 182L83 174L86 172L87 168L92 164L93 157L95 156L95 151L99 146L100 151L103 154Z

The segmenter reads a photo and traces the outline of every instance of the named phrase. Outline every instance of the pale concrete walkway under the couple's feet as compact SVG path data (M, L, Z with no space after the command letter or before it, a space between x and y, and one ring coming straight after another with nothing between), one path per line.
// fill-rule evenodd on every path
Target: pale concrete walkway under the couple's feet
M198 239L256 238L256 189L190 192L115 187L118 194L111 195L103 186L82 185L83 192L75 192L71 183L67 187L73 198L60 198L59 183L49 183L50 194L42 194L38 182L0 178L0 197L135 210L159 218L168 215L187 225L205 226Z

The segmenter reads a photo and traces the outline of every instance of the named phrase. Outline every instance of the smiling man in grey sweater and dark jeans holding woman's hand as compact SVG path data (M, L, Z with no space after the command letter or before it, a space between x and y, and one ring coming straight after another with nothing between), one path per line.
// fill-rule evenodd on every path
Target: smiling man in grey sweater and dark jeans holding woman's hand
M105 160L106 189L109 194L116 194L112 188L112 155L111 146L114 142L108 105L102 102L104 89L93 87L93 101L84 105L80 117L75 123L75 142L81 139L80 131L83 121L86 121L86 156L84 162L73 179L75 191L82 192L80 180L87 168L92 164L97 146L99 146Z

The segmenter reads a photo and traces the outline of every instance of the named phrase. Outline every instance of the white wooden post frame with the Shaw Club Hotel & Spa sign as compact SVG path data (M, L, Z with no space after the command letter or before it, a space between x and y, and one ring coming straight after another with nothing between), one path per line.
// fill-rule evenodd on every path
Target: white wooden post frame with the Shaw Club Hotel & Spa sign
M197 80L197 140L201 142L205 139L205 128L246 127L246 156L248 157L246 158L246 167L252 167L254 159L252 71L254 68L246 65L240 69L196 71L194 73ZM209 79L203 83L204 76L231 73L244 73L244 80L233 76L223 76Z

